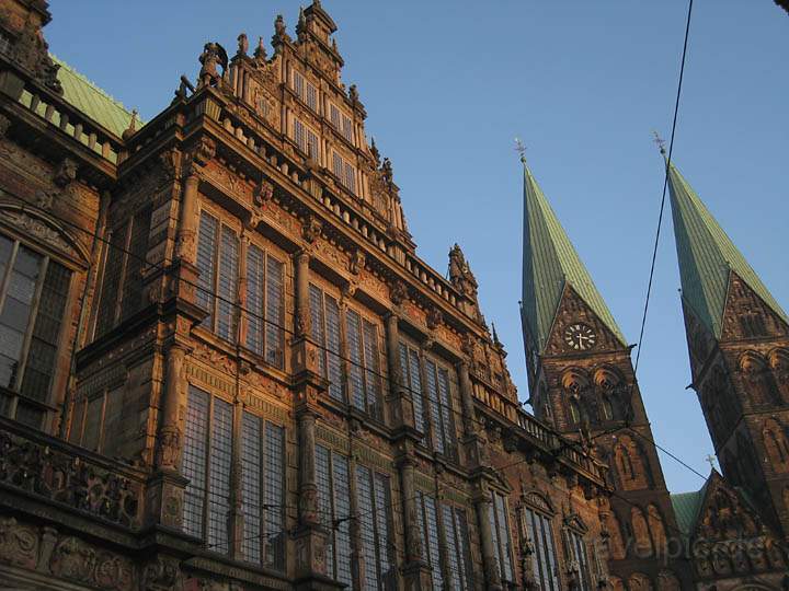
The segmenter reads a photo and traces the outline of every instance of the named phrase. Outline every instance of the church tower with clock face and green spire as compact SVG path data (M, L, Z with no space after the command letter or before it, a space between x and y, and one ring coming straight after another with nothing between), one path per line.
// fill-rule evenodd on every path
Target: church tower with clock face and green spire
M685 580L676 522L625 336L524 162L522 323L537 417L594 445L616 490L601 509L609 566L631 588ZM615 581L616 582L616 581ZM639 587L640 589L640 587Z

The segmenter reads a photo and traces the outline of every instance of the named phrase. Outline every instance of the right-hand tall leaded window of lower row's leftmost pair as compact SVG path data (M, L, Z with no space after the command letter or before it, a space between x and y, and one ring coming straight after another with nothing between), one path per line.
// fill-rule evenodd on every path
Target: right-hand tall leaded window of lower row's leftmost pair
M241 487L245 560L285 568L285 430L243 412Z

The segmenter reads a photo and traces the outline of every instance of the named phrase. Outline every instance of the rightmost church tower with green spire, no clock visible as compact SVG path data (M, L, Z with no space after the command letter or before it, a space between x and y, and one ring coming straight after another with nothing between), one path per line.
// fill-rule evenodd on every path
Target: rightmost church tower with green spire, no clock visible
M789 318L670 165L693 374L725 478L789 535Z

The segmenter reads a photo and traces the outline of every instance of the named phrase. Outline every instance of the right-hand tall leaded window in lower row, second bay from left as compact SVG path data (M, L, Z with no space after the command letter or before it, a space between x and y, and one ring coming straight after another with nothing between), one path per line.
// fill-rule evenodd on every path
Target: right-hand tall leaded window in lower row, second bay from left
M391 500L389 477L366 466L356 466L356 494L365 565L365 589L389 589L392 571L389 537Z

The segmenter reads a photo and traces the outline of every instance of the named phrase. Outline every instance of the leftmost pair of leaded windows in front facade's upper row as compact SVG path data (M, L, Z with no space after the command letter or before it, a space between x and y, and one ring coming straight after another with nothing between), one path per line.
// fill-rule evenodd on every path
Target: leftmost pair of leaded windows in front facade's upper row
M239 239L217 218L201 213L197 242L197 304L203 326L224 340L238 338ZM247 248L247 339L243 345L274 367L285 366L285 264L255 244Z

